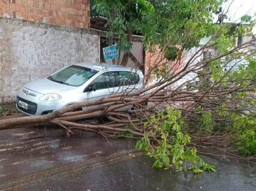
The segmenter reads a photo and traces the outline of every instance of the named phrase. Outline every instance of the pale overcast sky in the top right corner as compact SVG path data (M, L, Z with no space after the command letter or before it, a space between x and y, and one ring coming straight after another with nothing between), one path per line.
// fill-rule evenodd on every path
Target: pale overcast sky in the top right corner
M224 3L224 11L227 10L231 2L231 0L228 0ZM246 14L256 19L256 0L234 0L230 5L227 16L231 22L236 22ZM256 34L256 27L254 27L254 34Z

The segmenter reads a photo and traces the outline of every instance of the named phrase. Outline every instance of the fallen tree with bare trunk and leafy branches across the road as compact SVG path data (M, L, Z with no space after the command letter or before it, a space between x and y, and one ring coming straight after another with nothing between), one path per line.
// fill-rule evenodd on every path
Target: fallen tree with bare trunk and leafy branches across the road
M233 57L237 53L239 59L236 63L239 63L241 48L249 47L253 42L254 39L240 48L229 50L225 57ZM155 158L155 167L170 167L173 164L177 170L189 168L194 172L214 171L214 167L196 155L197 152L214 155L203 152L207 148L214 147L221 153L225 150L225 155L232 158L255 159L255 156L249 156L255 155L255 139L249 140L256 126L253 61L247 67L236 70L233 70L236 63L226 71L222 67L218 71L222 71L218 80L212 79L212 75L218 74L208 71L207 74L198 72L194 77L176 84L188 73L201 71L204 66L219 60L216 54L208 60L192 61L206 48L209 50L209 45L197 50L184 67L171 72L180 60L174 61L167 71L161 73L158 82L147 87L145 84L138 92L124 92L97 101L86 101L49 115L5 119L0 121L0 130L16 128L17 125L54 124L64 128L68 136L75 130L84 130L104 137L135 138L138 140L137 148ZM152 71L159 69L160 64L162 66L162 60L155 64ZM252 76L249 75L250 71ZM243 78L235 81L234 74L243 74ZM205 85L209 76L211 79ZM132 106L132 109L122 110L127 106ZM76 111L81 107L87 109ZM97 125L83 122L91 118L104 120ZM235 144L244 156L234 154ZM192 165L185 167L185 161Z

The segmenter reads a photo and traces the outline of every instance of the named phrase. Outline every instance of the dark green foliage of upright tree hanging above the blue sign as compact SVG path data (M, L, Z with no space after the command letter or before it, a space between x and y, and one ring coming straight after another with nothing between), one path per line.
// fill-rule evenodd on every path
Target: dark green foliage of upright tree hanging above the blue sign
M108 37L112 38L113 33L118 33L118 48L125 53L131 49L127 34L139 32L140 24L147 24L144 17L155 12L152 4L144 0L94 0L92 10L108 18Z

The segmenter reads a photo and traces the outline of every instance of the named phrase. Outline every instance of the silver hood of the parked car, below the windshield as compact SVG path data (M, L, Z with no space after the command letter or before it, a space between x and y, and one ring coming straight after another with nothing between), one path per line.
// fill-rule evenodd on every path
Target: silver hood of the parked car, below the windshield
M50 94L50 93L61 93L63 91L73 90L77 87L70 85L59 84L58 82L50 81L50 79L38 79L37 81L30 82L24 86L25 88L36 91L40 94Z

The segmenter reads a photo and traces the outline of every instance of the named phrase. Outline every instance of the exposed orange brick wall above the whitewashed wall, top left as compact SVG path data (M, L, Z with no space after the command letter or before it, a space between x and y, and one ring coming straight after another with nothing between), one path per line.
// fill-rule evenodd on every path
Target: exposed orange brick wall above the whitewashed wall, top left
M89 0L0 0L0 17L89 28Z

